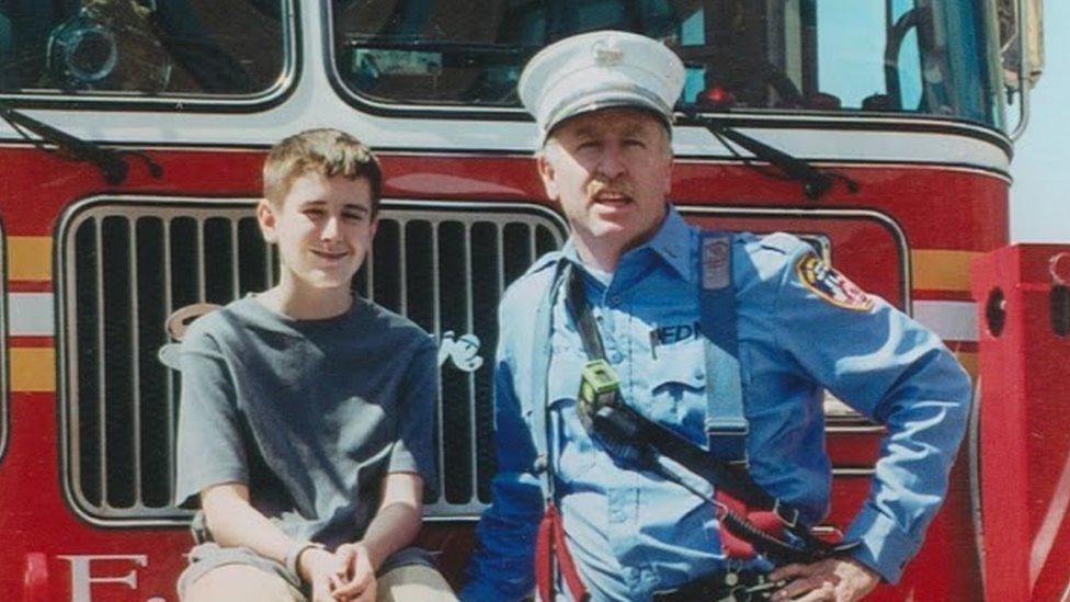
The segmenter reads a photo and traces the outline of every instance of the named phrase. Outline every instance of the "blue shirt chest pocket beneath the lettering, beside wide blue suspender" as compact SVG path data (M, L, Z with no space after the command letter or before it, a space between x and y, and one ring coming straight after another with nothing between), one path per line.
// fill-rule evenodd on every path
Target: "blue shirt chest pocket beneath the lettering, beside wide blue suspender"
M694 439L706 419L706 355L701 341L663 345L651 364L650 407L646 413ZM694 435L694 436L692 436Z

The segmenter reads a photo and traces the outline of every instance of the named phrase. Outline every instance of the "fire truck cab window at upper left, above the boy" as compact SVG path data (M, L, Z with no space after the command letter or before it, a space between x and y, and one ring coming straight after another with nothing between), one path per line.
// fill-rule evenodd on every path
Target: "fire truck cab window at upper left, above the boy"
M261 103L295 69L292 0L0 2L0 95Z

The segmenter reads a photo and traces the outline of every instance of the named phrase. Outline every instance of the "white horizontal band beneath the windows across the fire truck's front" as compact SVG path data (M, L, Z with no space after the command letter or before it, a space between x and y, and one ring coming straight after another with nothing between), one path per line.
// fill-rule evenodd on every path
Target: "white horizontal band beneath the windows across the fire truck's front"
M306 103L315 105L316 113L285 110L296 101L287 101L283 107L266 112L221 116L181 111L148 114L134 110L104 114L91 109L77 112L33 110L27 113L49 124L62 124L66 132L81 138L132 141L149 148L156 141L194 147L205 144L268 146L303 128L350 124L353 115L360 115L360 122L352 124L351 129L373 148L467 150L474 154L504 150L527 156L538 143L538 132L532 123L494 122L492 115L481 122L362 115L337 95L320 92L304 95L312 99ZM283 111L285 113L281 113ZM100 125L102 121L109 124L104 129ZM930 163L997 172L1009 169L1006 155L989 141L953 133L897 132L893 124L886 127L885 130L866 132L839 130L834 126L783 129L749 126L742 132L800 159L822 162ZM0 139L18 140L18 136L0 122ZM699 127L675 128L673 150L678 159L702 156L704 159L736 161L724 145ZM736 150L742 156L751 155Z

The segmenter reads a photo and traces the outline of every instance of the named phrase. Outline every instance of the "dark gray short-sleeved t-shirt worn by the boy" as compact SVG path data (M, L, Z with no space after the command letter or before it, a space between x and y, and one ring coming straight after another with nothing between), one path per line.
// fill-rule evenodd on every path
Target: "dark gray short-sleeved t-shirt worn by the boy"
M411 321L358 297L323 320L246 297L193 322L181 359L178 503L246 484L288 535L335 546L363 536L387 473L437 490L437 350Z

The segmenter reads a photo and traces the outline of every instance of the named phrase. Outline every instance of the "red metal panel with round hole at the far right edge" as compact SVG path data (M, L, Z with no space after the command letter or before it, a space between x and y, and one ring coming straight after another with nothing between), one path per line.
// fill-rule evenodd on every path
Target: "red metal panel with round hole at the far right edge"
M1070 247L1015 245L972 265L989 600L1058 600L1070 578L1070 337L1051 319L1060 257Z

